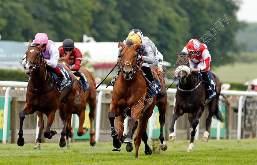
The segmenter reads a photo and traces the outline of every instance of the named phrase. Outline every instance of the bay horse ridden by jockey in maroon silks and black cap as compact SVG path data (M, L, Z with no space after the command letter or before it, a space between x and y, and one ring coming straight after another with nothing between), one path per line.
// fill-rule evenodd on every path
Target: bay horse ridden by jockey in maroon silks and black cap
M58 62L59 61L60 62L62 61L63 64L65 64L67 67L69 67L69 55L61 57L58 60ZM79 128L77 131L77 135L78 136L84 135L88 131L88 128L83 127L83 123L85 120L85 110L86 110L86 106L88 103L89 109L90 109L90 111L89 111L89 119L90 119L89 143L91 146L94 146L95 145L95 138L94 138L95 132L93 130L93 121L95 118L95 106L96 106L95 79L94 79L93 75L90 72L88 72L88 70L80 68L79 71L84 73L84 75L86 76L86 78L88 80L88 84L89 84L89 89L84 92L81 84L77 81L78 88L76 91L76 97L78 97L79 103L77 105L74 104L71 113L77 114L79 116ZM64 117L65 117L65 107L66 107L65 103L63 103L63 102L58 103L59 115L62 120L64 120ZM72 126L70 123L66 129L66 134L67 133L69 133L69 135L66 136L66 141L68 143L66 148L69 148L69 146L70 146L69 137L73 136Z

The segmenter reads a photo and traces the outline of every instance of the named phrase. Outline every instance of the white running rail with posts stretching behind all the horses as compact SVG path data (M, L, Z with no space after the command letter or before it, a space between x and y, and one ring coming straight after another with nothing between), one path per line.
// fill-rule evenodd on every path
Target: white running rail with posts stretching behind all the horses
M6 144L6 133L7 133L7 119L8 119L8 97L9 97L9 90L11 88L15 88L15 87L20 87L20 88L27 88L28 82L17 82L17 81L0 81L0 87L7 87L6 88L6 93L5 93L5 105L4 105L4 123L3 123L3 144ZM97 88L97 91L99 92L98 95L98 102L97 102L97 109L96 109L96 125L95 125L95 140L98 141L99 140L99 135L100 135L100 114L101 114L101 104L102 104L102 93L104 91L113 91L113 87L110 86L108 88L106 88L106 86L99 86ZM177 91L177 89L173 89L170 88L167 90L167 92L169 94L175 94ZM242 110L243 110L243 106L244 106L244 96L257 96L257 92L248 92L248 91L230 91L230 90L226 90L226 91L221 91L222 94L227 95L227 96L240 96L239 98L239 104L238 104L238 121L237 121L237 139L240 140L241 137L241 122L242 122ZM176 99L174 98L174 105L175 105ZM151 123L151 118L149 119L150 123ZM36 125L38 126L38 124L36 123ZM220 125L219 125L220 126ZM127 127L127 122L125 121L125 128ZM150 126L151 127L151 126ZM176 130L176 123L174 126L175 130ZM37 128L38 130L38 128ZM126 129L125 129L126 130ZM220 135L220 128L217 128L217 139L219 140L218 135ZM8 131L9 132L9 131ZM149 131L150 133L152 131ZM199 133L199 131L198 131ZM37 132L38 134L38 132ZM37 137L36 134L36 137ZM199 135L196 135L196 138ZM151 137L151 134L149 134L149 137ZM198 139L198 138L197 138Z

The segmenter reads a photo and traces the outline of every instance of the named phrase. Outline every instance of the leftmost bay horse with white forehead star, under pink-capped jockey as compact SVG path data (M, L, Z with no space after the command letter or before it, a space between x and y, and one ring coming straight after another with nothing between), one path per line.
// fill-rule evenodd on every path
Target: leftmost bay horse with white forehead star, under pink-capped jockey
M46 63L44 62L43 54L40 49L43 44L38 46L28 45L28 50L26 51L26 66L25 72L30 76L28 81L28 90L26 93L26 103L22 111L20 111L20 130L19 138L17 144L19 146L24 145L24 138L22 125L26 114L33 114L37 112L40 120L39 124L39 135L36 144L41 143L41 133L44 127L43 114L47 115L47 127L44 131L44 137L52 138L55 131L50 130L50 127L54 120L54 115L57 110L58 101L64 100L66 102L65 120L63 121L63 129L61 131L61 139L59 146L64 147L65 142L65 129L70 121L71 110L75 102L75 94L77 90L76 77L70 72L70 70L65 66L64 69L69 73L72 78L73 84L63 91L59 92L59 87L57 87L57 82L52 78L51 73L47 71ZM35 144L35 146L36 146Z

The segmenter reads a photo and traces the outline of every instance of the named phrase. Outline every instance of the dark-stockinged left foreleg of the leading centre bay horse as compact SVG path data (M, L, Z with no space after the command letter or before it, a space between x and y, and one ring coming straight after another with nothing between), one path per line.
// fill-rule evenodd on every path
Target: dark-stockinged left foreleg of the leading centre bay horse
M115 130L114 126L114 119L115 119L115 111L117 107L114 102L110 105L110 111L108 112L108 118L110 120L111 124L111 137L113 138L113 146L114 148L120 148L121 147L121 141L117 138L117 132Z

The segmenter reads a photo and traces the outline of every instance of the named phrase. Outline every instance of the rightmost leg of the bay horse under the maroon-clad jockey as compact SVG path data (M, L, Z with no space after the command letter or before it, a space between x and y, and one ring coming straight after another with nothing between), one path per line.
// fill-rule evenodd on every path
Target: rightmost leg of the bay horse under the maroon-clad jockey
M94 118L95 118L95 105L96 105L96 98L92 99L91 101L89 101L89 120L90 120L90 131L89 131L89 143L90 145L95 145L95 132L94 132L94 128L93 128L93 122L94 122Z

